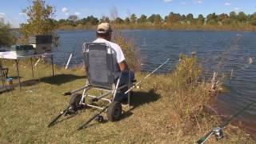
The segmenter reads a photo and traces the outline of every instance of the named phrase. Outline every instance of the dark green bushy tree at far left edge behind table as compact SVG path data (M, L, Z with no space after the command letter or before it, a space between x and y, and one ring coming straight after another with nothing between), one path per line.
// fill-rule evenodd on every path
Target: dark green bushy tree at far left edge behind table
M5 24L3 18L0 18L0 46L10 46L14 44L16 38L11 33L10 24Z

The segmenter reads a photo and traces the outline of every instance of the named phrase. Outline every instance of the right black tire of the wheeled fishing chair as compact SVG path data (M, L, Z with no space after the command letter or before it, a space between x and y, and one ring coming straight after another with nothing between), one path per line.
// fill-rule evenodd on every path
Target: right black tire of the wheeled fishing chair
M122 115L122 105L120 102L112 102L107 109L106 117L110 122L118 121Z

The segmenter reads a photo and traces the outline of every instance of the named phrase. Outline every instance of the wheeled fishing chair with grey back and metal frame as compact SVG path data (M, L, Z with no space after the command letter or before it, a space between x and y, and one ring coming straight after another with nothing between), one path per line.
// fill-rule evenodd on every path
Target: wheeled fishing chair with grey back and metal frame
M130 92L124 92L130 89L130 72L127 82L121 83L122 73L116 72L117 63L114 58L114 50L106 43L85 43L83 45L83 54L86 67L86 86L78 90L71 91L70 108L78 110L80 106L89 106L100 110L107 110L106 116L110 121L117 121L122 114L122 101L126 101L130 106ZM77 94L83 90L82 94ZM89 91L101 91L99 95L88 94ZM96 104L103 101L108 103L105 106Z

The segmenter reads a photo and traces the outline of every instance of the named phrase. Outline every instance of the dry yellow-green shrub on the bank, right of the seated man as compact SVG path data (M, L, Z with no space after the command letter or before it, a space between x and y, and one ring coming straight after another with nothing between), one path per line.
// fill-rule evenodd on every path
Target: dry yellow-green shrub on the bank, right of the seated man
M180 118L179 122L193 126L193 121L205 112L205 104L209 102L213 92L211 85L202 77L202 66L198 58L180 54L176 70L172 73L171 101L174 111ZM191 123L192 121L192 123Z

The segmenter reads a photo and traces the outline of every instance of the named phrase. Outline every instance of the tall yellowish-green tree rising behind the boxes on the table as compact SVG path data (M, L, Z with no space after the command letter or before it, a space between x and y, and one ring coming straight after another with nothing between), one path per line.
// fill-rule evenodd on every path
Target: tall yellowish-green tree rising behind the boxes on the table
M28 17L27 23L20 26L21 33L28 38L36 34L52 34L55 26L51 23L54 17L54 7L46 5L44 0L34 0L31 6L22 10Z

